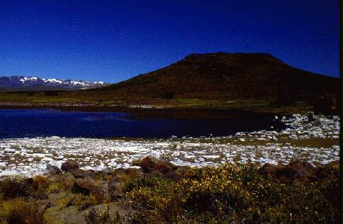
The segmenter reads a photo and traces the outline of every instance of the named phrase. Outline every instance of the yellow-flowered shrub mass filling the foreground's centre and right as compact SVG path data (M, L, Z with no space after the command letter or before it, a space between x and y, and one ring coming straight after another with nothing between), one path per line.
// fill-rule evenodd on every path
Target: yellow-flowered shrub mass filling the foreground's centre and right
M329 168L328 168L329 169ZM189 169L127 182L132 223L338 223L339 167L324 179L283 183L252 165Z

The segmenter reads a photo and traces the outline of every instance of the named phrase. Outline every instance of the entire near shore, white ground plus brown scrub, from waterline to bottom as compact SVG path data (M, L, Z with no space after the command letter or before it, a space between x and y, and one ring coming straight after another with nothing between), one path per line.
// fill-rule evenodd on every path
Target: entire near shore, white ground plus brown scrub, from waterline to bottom
M0 139L0 221L338 223L340 116L272 119L285 129Z

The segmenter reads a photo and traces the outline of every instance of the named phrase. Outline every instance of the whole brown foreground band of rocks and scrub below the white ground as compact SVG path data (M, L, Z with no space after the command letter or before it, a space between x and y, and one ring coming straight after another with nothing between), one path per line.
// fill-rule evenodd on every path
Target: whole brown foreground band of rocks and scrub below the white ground
M0 182L0 223L338 223L339 163L92 171L76 162Z

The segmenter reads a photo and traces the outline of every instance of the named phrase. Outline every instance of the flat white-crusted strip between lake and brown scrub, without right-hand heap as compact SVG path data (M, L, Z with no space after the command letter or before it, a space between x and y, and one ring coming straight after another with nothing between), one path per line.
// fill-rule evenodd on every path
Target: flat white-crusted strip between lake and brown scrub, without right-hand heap
M209 166L227 162L259 164L290 162L306 159L318 164L339 160L340 147L295 147L292 145L227 145L221 143L193 144L163 140L163 145L144 140L104 140L92 138L16 138L0 140L19 153L3 151L0 155L0 176L38 175L46 172L47 164L60 167L66 160L80 163L83 169L103 170L129 167L132 161L147 155L166 159L177 165ZM56 147L50 147L55 145ZM21 147L24 146L24 147ZM19 149L21 147L21 149ZM25 151L25 154L21 154ZM49 153L39 153L49 151ZM23 165L25 164L25 165Z

